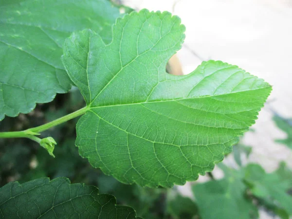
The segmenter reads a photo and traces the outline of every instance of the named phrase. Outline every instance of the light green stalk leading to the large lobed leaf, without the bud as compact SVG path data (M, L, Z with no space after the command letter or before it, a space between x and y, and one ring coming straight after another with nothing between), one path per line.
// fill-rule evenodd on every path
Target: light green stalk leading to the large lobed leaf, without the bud
M85 112L87 112L87 110L89 109L90 109L89 107L84 107L73 113L70 113L61 118L58 118L52 122L49 122L47 124L44 124L35 128L29 128L24 131L0 132L0 138L29 138L39 143L41 139L37 138L35 135L49 128L52 128L54 126L60 125L61 123L67 122L68 120L71 120L77 116L80 116L84 114Z

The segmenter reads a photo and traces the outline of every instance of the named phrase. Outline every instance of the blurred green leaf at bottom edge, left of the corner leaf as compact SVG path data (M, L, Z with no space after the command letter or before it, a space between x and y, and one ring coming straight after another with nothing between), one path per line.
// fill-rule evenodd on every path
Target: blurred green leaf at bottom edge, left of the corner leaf
M251 219L258 214L245 195L247 187L240 171L229 169L224 179L196 184L192 189L202 219Z

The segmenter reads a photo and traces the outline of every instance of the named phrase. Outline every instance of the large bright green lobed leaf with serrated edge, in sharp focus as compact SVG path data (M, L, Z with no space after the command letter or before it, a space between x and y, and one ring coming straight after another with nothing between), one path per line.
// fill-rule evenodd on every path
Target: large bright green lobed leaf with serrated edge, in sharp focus
M76 127L79 153L123 183L170 187L211 171L271 91L221 61L166 73L184 30L168 12L142 10L117 19L108 45L91 30L64 43L63 63L89 106Z

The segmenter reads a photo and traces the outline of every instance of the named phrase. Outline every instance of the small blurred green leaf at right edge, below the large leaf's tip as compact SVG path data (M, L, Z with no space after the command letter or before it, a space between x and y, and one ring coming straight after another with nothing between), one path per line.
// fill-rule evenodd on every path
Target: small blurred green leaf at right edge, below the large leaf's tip
M277 139L276 142L287 145L292 149L292 119L286 119L279 115L273 117L277 127L287 133L286 139Z

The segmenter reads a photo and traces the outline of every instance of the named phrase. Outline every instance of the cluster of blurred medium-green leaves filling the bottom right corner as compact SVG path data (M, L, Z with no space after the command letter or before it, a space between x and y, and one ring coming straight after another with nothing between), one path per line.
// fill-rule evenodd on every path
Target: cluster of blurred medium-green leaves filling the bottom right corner
M239 170L223 164L219 167L225 175L222 180L193 186L202 218L257 218L255 199L283 219L292 215L292 196L288 193L292 189L292 172L285 164L269 174L258 164L248 164Z

